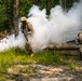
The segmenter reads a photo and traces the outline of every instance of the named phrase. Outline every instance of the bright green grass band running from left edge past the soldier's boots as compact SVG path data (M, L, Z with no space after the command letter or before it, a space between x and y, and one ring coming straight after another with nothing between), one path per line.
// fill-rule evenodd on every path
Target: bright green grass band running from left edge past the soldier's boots
M16 49L10 49L4 52L0 52L0 70L6 71L6 69L14 64L28 64L28 63L40 63L40 64L62 64L59 54L44 51L35 54L33 57L29 56L27 52Z

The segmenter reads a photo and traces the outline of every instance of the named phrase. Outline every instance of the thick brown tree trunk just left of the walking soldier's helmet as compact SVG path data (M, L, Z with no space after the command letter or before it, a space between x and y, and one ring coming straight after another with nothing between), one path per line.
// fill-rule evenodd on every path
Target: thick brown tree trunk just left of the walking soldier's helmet
M15 28L15 37L18 36L18 5L19 5L19 0L14 0L14 10L13 10L13 24Z

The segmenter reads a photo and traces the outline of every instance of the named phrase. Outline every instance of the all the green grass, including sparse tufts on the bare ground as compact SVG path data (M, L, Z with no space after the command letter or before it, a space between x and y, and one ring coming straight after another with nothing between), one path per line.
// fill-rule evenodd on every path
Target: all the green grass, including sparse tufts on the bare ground
M8 68L12 67L15 64L29 64L29 63L39 63L44 65L55 65L55 66L65 66L67 69L77 69L79 70L80 66L73 60L73 58L68 56L62 56L59 52L43 51L36 53L33 57L29 56L26 51L19 49L10 49L4 52L0 52L0 81L6 81L9 76ZM74 64L76 63L76 64ZM15 68L14 68L15 69ZM30 67L29 70L23 69L23 72L32 72L33 69ZM22 71L22 70L20 70ZM15 78L14 76L12 76ZM9 78L10 79L10 78Z

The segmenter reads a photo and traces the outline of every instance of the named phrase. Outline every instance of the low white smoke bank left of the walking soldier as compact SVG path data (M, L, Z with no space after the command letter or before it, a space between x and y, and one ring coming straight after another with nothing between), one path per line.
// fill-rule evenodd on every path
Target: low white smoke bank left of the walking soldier
M17 36L17 38L15 38L14 35L11 35L2 40L0 40L0 52L8 50L10 48L20 48L20 49L25 49L25 38L23 36L22 32L19 32L19 35Z

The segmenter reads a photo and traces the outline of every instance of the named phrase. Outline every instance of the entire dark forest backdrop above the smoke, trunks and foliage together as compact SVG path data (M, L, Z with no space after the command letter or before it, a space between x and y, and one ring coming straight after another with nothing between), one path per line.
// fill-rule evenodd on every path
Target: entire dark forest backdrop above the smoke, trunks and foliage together
M40 9L46 9L46 14L50 15L50 10L57 4L60 4L65 11L68 11L73 2L79 0L0 0L0 31L15 31L18 33L18 23L22 16L27 16L29 9L36 4Z

